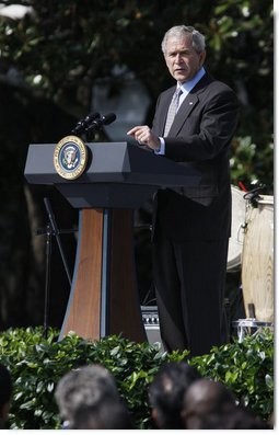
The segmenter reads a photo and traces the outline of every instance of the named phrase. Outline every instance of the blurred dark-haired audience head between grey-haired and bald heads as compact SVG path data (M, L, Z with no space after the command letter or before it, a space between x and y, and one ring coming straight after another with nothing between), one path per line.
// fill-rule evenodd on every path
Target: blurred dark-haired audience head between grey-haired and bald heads
M152 419L159 428L183 428L184 393L199 378L198 371L184 362L166 363L160 368L149 389Z

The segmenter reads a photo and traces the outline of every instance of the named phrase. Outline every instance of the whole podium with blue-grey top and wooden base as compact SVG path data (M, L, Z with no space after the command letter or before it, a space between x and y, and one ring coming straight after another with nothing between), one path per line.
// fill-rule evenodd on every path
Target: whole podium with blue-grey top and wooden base
M77 180L54 165L56 144L28 147L24 175L50 184L79 208L79 237L72 285L59 339L69 331L100 340L111 334L147 340L133 260L133 209L161 187L198 185L187 164L127 142L86 144L89 161Z

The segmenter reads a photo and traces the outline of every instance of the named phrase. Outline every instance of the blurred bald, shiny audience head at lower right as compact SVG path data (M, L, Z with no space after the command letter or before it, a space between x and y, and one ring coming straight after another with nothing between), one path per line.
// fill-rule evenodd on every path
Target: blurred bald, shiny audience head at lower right
M221 382L199 379L191 384L184 396L182 417L184 427L201 428L201 420L212 414L222 414L235 408L235 398Z

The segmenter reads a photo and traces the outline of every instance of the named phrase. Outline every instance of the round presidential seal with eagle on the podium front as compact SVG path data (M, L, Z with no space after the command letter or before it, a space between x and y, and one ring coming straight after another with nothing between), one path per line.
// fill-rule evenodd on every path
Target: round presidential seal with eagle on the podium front
M54 164L63 179L78 179L83 173L86 162L88 148L78 136L66 136L57 144Z

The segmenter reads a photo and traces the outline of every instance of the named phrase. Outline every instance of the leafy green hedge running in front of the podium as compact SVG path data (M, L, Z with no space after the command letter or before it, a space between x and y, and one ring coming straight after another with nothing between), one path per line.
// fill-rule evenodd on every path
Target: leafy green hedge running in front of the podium
M186 359L188 352L162 354L156 345L137 344L121 336L89 342L74 334L57 341L43 329L11 329L0 334L0 360L14 384L10 428L60 427L54 391L71 368L103 364L114 375L118 390L132 412L137 428L152 428L148 387L163 362ZM263 332L246 336L188 360L205 377L221 380L237 399L263 419L274 409L274 336Z

